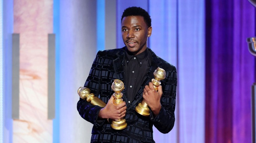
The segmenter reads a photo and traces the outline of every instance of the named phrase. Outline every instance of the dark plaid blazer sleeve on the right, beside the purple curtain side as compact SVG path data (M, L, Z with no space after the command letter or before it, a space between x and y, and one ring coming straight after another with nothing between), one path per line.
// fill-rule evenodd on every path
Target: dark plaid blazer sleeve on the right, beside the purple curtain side
M163 95L161 97L161 109L157 117L154 118L153 113L150 113L150 120L154 126L163 134L169 133L175 122L175 102L176 102L176 88L177 88L177 70L173 67L173 70L168 73L167 82L163 89Z

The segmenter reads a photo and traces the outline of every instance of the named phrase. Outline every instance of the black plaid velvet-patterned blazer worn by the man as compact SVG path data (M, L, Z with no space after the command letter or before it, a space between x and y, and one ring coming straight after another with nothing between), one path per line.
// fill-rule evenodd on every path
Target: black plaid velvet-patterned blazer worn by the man
M153 140L153 125L164 134L170 132L173 128L175 121L177 71L173 65L156 56L151 49L148 48L148 50L152 53L151 68L146 77L144 77L144 82L134 100L130 105L127 104L125 116L127 127L125 129L112 129L110 123L106 120L97 119L99 110L102 107L94 106L86 102L86 100L79 99L77 110L80 116L94 125L91 142L155 142ZM123 100L128 103L124 81L124 61L125 47L99 51L84 86L90 88L91 93L94 93L96 96L98 95L103 102L107 103L114 93L111 89L114 79L120 79L124 82L124 90L122 90ZM162 107L156 118L152 116L153 113L150 113L149 117L144 117L135 111L135 107L142 101L143 89L154 78L153 72L157 67L166 71L166 78L161 80L163 95L160 102Z

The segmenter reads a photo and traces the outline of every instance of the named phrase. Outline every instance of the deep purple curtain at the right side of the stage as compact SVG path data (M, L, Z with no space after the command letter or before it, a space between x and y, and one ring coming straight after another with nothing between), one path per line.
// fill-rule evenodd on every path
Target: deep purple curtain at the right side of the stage
M206 1L205 142L251 142L250 87L255 8L247 1Z

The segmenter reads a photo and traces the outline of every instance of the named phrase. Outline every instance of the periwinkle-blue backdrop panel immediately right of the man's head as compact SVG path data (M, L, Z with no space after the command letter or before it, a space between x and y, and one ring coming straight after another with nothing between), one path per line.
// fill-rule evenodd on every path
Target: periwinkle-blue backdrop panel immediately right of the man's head
M152 35L149 37L149 48L170 64L177 67L177 1L162 0L149 2L149 14L152 19ZM178 103L175 116L177 119ZM156 142L178 142L178 122L170 133L162 134L154 128Z

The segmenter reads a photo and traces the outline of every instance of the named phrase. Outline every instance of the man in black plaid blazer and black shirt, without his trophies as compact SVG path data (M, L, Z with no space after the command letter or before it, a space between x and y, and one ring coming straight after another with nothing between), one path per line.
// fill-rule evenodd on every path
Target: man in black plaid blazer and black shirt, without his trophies
M154 125L161 133L168 133L174 126L177 72L176 68L147 48L151 36L151 18L144 9L130 7L121 18L122 39L125 47L99 51L93 62L85 87L107 103L102 108L80 98L77 110L80 116L93 126L91 142L155 142ZM160 48L160 47L159 47ZM151 79L158 68L166 71L158 91ZM115 105L111 85L114 79L124 82L124 102ZM150 116L135 111L142 99L150 108ZM126 119L122 130L111 128L107 119Z

